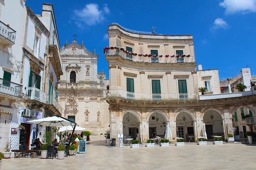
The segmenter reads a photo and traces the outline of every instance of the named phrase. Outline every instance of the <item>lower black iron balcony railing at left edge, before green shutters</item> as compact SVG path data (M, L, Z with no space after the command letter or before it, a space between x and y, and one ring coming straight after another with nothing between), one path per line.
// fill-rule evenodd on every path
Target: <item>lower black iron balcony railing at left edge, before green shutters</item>
M0 93L22 98L22 85L0 78Z

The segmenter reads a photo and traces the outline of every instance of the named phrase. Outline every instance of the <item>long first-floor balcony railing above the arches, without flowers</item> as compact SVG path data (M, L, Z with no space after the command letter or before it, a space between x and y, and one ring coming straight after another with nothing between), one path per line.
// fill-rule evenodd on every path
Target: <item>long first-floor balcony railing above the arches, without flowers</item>
M104 98L122 98L128 100L197 100L198 95L196 93L134 93L125 91L122 89L111 89L103 91Z

